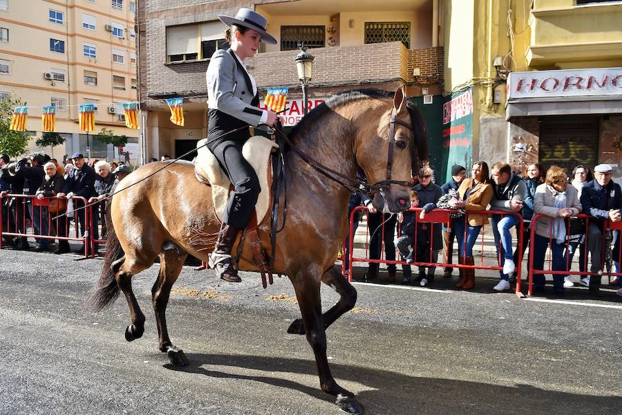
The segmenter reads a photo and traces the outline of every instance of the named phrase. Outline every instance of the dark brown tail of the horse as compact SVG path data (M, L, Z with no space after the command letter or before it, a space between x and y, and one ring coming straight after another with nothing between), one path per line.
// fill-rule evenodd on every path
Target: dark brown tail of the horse
M119 286L115 275L119 272L124 262L124 252L121 243L115 233L115 228L110 214L110 205L106 206L106 254L104 255L104 266L97 284L88 296L86 303L88 308L93 311L100 311L102 308L112 304L119 296Z

